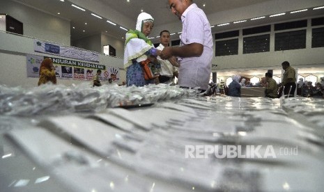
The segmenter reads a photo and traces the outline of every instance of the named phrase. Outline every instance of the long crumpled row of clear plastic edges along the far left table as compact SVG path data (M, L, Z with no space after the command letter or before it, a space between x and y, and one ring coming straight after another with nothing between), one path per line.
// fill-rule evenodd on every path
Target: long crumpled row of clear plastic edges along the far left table
M0 85L0 114L36 115L57 112L95 112L107 107L148 104L196 95L196 90L178 86L149 85L126 87L103 85L91 87L45 84L35 88Z

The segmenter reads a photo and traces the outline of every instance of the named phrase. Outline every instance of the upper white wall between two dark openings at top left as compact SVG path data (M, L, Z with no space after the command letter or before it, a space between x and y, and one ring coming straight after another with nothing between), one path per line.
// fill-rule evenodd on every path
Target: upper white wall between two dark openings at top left
M70 22L14 1L0 1L0 13L24 24L24 35L70 45Z

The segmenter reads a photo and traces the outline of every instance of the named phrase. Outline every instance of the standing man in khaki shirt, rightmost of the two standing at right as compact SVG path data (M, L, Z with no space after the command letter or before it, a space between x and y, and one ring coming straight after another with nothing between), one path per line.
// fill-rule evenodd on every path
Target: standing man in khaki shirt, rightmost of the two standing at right
M291 67L288 61L281 63L282 69L285 70L284 77L279 86L284 86L284 95L288 97L294 97L296 90L296 71Z

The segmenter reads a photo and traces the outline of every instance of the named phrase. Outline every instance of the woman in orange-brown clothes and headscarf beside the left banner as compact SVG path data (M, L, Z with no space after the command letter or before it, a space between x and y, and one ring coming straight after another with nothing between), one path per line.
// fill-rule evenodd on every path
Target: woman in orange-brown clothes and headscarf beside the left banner
M45 58L40 64L40 79L38 80L38 86L48 82L56 84L55 67L53 65L52 58Z

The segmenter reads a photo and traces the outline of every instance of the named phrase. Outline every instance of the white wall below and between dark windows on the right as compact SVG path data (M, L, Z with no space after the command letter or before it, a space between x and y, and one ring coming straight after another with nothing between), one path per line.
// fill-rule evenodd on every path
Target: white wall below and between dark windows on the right
M270 51L256 54L242 54L243 36L242 29L240 29L238 55L233 56L217 56L213 58L212 63L217 64L213 68L213 72L226 70L242 70L253 69L257 67L268 67L268 69L276 69L281 67L283 61L288 61L291 65L298 67L298 65L309 65L309 67L316 67L316 65L324 64L324 47L311 48L311 19L308 19L308 26L306 28L306 49L293 49L286 51L275 51L275 32L281 33L286 31L297 31L300 29L289 29L286 31L274 31L274 24L270 32ZM316 26L318 27L318 26ZM266 33L259 33L254 35L263 35ZM254 36L250 35L250 36ZM233 38L229 38L233 39ZM221 39L226 40L226 39ZM215 41L214 41L215 50Z

